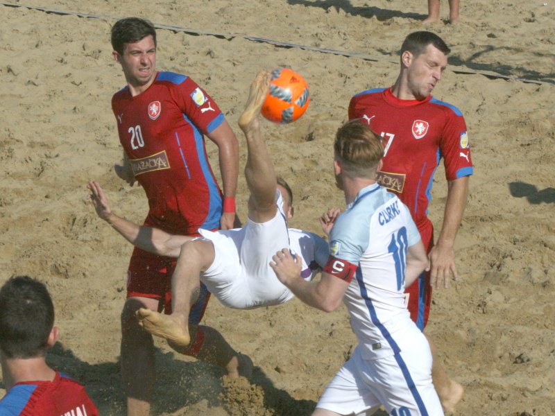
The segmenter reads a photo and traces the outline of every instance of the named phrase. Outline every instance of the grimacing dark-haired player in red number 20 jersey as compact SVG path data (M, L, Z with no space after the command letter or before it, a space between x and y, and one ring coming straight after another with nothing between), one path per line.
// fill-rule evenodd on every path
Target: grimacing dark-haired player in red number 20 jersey
M125 163L116 172L144 187L149 212L144 225L172 234L230 229L239 171L239 145L212 98L187 76L158 72L153 25L135 17L112 28L114 60L127 86L114 94L112 110ZM219 148L223 201L207 161L204 136ZM155 381L153 339L135 318L143 307L169 312L175 259L135 248L128 269L128 300L121 314L121 367L129 415L148 415ZM215 329L200 327L210 293L203 288L190 313L191 345L183 354L221 365L238 375L240 356Z

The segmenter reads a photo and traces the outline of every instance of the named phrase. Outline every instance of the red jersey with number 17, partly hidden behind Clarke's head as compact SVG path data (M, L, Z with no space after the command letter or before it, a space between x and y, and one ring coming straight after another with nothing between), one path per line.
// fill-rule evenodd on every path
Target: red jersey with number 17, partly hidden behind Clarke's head
M472 175L463 114L432 96L400 100L390 89L370 89L351 98L349 119L361 119L382 137L384 166L379 184L398 194L418 227L427 220L432 179L443 157L447 180Z

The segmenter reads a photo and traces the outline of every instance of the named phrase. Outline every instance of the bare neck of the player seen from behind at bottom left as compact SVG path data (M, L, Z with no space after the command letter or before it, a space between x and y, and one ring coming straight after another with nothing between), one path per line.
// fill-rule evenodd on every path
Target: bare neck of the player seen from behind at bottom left
M53 381L56 372L46 365L44 357L3 358L2 376L8 391L24 381Z

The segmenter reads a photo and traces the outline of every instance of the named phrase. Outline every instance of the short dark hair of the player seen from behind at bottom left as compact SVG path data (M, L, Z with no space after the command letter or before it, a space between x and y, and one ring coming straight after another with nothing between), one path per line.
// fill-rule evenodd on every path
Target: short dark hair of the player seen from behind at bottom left
M10 277L0 288L0 349L7 358L44 356L54 325L54 305L40 281Z

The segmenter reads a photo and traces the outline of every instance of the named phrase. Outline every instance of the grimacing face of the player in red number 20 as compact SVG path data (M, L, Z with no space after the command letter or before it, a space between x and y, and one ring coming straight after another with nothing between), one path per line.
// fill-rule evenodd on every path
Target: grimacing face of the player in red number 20
M139 42L128 43L123 55L113 52L114 59L121 64L127 83L131 87L145 88L151 85L156 73L156 46L153 37L148 35Z

